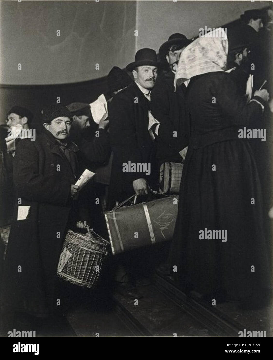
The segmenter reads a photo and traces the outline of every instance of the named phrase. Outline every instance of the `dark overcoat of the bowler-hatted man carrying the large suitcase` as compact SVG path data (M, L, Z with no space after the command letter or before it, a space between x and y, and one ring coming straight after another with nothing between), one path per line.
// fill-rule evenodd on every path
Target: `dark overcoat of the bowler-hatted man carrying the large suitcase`
M109 132L113 164L109 193L112 201L123 201L134 194L133 181L147 179L156 185L155 144L148 131L149 100L133 82L113 97L109 106ZM123 172L124 163L151 163L151 175Z

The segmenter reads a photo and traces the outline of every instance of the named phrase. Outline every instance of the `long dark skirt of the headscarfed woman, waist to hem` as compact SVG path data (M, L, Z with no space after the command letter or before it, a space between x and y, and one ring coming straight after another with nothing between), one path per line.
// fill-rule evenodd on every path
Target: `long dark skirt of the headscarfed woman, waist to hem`
M189 147L171 254L180 287L216 301L244 301L270 288L261 203L247 141Z

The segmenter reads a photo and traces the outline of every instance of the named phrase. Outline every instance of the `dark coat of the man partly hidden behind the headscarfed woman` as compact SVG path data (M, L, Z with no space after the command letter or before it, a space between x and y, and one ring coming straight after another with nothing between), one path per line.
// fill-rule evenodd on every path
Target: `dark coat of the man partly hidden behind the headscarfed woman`
M151 94L151 113L160 122L156 138L156 158L164 162L181 162L179 151L188 145L189 119L185 111L185 85L174 91L174 73L158 76ZM176 135L174 136L174 131Z

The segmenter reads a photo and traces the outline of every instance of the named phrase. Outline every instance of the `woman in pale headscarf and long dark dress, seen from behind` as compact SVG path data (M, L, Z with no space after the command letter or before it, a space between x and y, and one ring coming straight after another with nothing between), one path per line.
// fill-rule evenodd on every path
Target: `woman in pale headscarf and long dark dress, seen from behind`
M186 293L197 292L210 304L214 299L253 307L270 287L267 244L257 167L248 141L238 135L244 127L265 127L268 93L256 91L249 103L238 94L225 72L228 40L216 37L217 31L183 51L175 76L175 85L188 84L191 135L172 264Z

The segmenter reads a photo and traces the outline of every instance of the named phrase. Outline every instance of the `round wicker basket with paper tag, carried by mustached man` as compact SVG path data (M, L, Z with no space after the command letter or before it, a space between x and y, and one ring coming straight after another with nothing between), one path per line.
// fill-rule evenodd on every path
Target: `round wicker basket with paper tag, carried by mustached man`
M57 275L72 284L92 288L96 284L108 241L88 228L86 234L68 230Z

